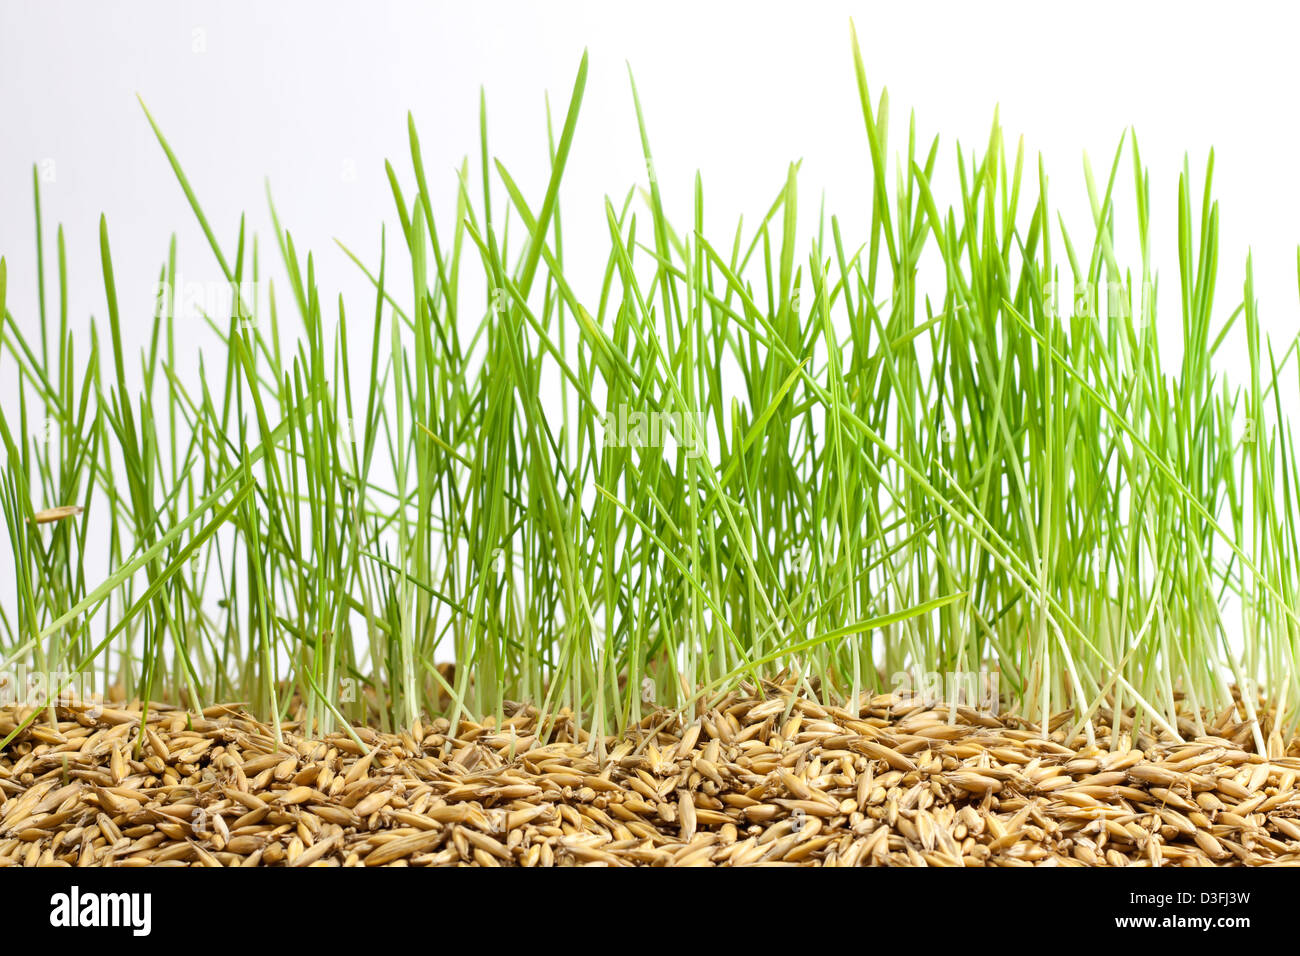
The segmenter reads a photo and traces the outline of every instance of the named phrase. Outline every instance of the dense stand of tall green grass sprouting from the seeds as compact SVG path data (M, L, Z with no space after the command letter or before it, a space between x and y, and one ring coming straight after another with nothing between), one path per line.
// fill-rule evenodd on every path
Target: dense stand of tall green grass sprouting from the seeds
M387 168L400 233L344 250L373 298L332 300L274 219L274 294L208 315L225 354L202 359L178 350L174 238L150 346L124 354L104 222L108 338L73 333L36 186L36 316L4 307L0 260L21 392L0 418L5 667L276 721L296 697L320 727L526 700L601 734L781 669L836 702L900 671L991 669L1005 706L1072 708L1088 735L1113 709L1200 732L1234 687L1278 714L1258 747L1290 735L1300 470L1282 408L1300 378L1295 342L1261 337L1249 259L1239 295L1217 287L1213 157L1200 182L1184 164L1179 272L1156 297L1136 137L1104 178L1086 163L1092 221L1071 235L996 122L983 152L914 122L890 140L855 38L853 55L864 235L822 215L801 242L797 165L759 220L712 238L698 177L676 225L650 181L607 200L603 282L575 287L559 200L584 57L543 195L491 156L486 107L481 194L469 160L426 179L412 122L410 170ZM243 225L221 245L148 121L221 273L265 281L264 247ZM1127 217L1140 261L1121 264ZM1114 295L1097 316L1079 287ZM1183 328L1176 367L1157 302ZM1231 380L1228 339L1249 354ZM55 505L84 512L30 523ZM116 570L91 580L105 554Z

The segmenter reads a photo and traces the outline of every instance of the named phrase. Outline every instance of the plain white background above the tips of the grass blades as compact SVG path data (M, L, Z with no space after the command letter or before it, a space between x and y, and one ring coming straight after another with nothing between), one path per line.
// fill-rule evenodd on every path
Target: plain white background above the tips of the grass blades
M729 246L736 216L757 221L786 164L802 159L801 220L811 226L824 190L827 209L840 216L855 246L864 235L870 173L850 16L864 46L872 95L883 86L890 94L890 152L904 148L909 111L915 109L920 140L941 135L940 182L952 182L954 144L983 150L1000 104L1009 140L1026 138L1031 172L1041 151L1053 200L1079 245L1091 241L1083 152L1104 178L1124 129L1138 129L1152 176L1170 371L1180 339L1174 294L1178 173L1186 150L1199 196L1205 153L1214 144L1222 202L1216 311L1222 319L1240 300L1244 258L1253 247L1265 329L1279 341L1295 334L1300 60L1295 17L1280 4L1232 4L1225 14L1212 5L1130 3L3 0L0 255L9 265L8 307L34 336L34 163L48 178L48 261L55 225L66 230L74 329L84 329L90 315L105 313L100 212L113 241L129 359L144 343L172 232L179 239L182 276L217 277L136 103L139 94L177 150L228 252L246 211L261 233L264 261L270 259L269 181L299 248L316 255L322 298L344 293L352 313L365 316L365 284L334 239L377 261L380 224L387 221L391 230L396 222L385 157L394 160L407 199L413 195L406 112L413 112L421 131L443 229L450 228L455 169L465 155L478 189L480 86L488 95L491 153L537 203L547 161L543 94L550 92L558 129L584 48L590 51L590 77L562 193L567 261L580 297L594 297L604 261L604 195L619 202L646 178L625 64L637 77L660 186L676 221L689 222L699 169L706 233ZM1118 186L1122 233L1134 224L1130 170L1126 155ZM952 200L952 191L940 193L944 206ZM585 263L584 250L594 252ZM53 281L47 282L53 295ZM199 329L194 341L202 341ZM0 381L8 401L13 367L3 356Z

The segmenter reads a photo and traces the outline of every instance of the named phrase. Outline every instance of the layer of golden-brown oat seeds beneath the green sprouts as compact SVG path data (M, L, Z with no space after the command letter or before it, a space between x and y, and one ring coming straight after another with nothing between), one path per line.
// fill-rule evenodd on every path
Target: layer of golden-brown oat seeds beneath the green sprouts
M151 708L143 731L138 709L57 715L0 752L0 865L1300 862L1300 758L1249 752L1234 723L1110 752L788 692L604 741L566 714L540 736L532 708L280 743L234 708Z

